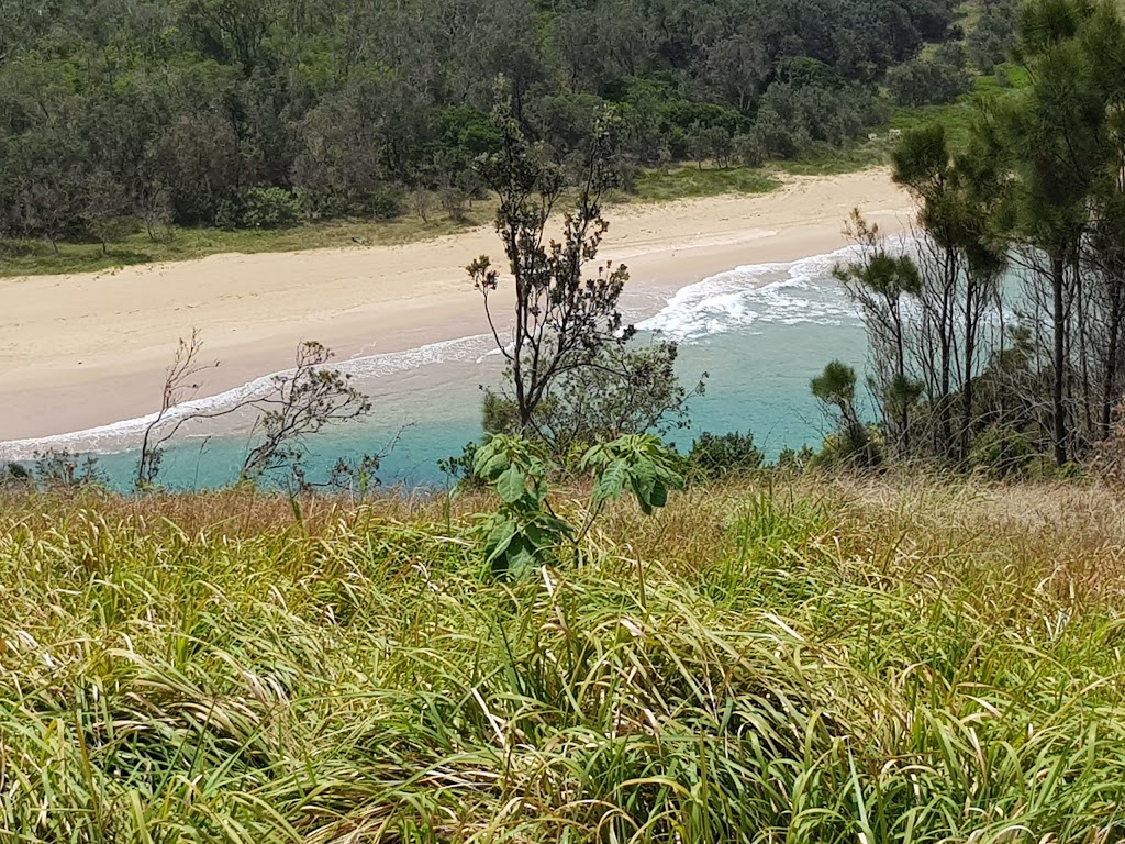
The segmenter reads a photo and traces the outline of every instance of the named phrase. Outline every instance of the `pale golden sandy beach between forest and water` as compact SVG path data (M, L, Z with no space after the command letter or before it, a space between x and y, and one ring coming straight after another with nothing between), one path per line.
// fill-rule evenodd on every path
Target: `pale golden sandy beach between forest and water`
M853 207L892 234L911 203L876 169L792 177L762 196L613 207L600 258L628 264L627 296L670 295L735 267L839 249ZM480 254L501 262L490 226L397 246L0 279L0 441L156 410L177 340L196 327L205 357L222 362L200 395L285 369L302 340L348 359L479 334L465 266Z

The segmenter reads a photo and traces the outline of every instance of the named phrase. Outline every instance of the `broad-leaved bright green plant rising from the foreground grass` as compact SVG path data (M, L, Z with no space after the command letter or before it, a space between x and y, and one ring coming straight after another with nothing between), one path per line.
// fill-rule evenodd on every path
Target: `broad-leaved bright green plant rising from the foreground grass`
M558 559L560 547L576 548L605 504L628 490L646 515L668 502L669 490L682 490L676 455L655 434L627 434L586 451L579 469L593 476L580 527L560 517L550 501L549 478L559 467L544 446L508 434L493 434L474 457L472 474L501 500L494 513L478 522L485 566L494 577L520 577L536 565Z

